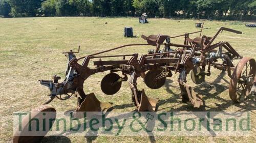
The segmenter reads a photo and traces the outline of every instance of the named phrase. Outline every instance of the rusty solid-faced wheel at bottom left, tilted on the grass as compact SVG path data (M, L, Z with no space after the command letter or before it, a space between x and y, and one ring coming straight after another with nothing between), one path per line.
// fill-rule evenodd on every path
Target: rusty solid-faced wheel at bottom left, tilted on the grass
M44 116L44 112L51 112L49 115ZM55 119L56 118L56 110L51 105L41 105L31 111L31 117L29 118L29 114L24 117L22 120L22 128L16 129L13 135L13 143L37 143L40 142L42 138L47 134L47 132L51 129L51 127L47 127L43 129L42 119ZM39 119L39 131L36 130L36 122L29 122L29 119ZM54 121L53 121L54 122ZM29 124L31 124L31 131L29 131ZM53 123L52 123L53 124ZM33 132L34 131L34 132Z

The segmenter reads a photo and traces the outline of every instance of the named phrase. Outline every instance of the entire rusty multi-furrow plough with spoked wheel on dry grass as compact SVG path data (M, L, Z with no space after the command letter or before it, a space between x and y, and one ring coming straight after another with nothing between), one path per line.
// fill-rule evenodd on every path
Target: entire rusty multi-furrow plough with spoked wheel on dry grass
M72 50L65 52L68 58L66 77L59 82L60 77L53 76L53 80L39 80L42 85L50 89L50 99L44 103L49 104L54 98L67 100L72 95L77 97L76 111L102 111L106 112L112 103L100 102L96 96L86 94L83 91L84 82L93 74L110 71L101 81L101 90L106 95L116 94L123 81L128 81L132 91L132 101L138 111L155 111L158 99L152 99L145 95L144 90L138 90L137 79L144 79L148 88L161 88L167 77L173 73L179 73L178 83L181 89L182 102L190 102L194 107L200 107L204 101L201 96L195 94L190 85L187 84L187 74L190 73L191 80L200 84L205 81L205 76L211 75L211 68L227 71L231 78L229 96L234 102L242 102L250 93L255 93L256 87L256 63L252 58L243 58L228 42L214 43L216 37L227 31L242 34L230 28L221 27L213 37L200 36L190 39L187 33L175 37L167 35L151 35L141 37L147 41L145 44L130 44L101 51L98 53L76 58ZM184 43L175 44L171 39L184 36ZM138 53L122 55L100 55L120 48L129 46L154 46L148 53L139 56ZM162 49L160 49L162 47ZM79 52L79 50L78 50ZM122 60L104 60L104 58L123 58ZM95 67L89 67L92 59ZM242 59L235 67L233 60ZM83 60L82 64L78 62ZM222 62L219 62L222 61ZM233 73L231 73L233 71ZM118 75L117 72L122 73ZM129 79L130 77L130 79ZM53 108L49 106L49 108ZM25 121L28 122L28 121ZM21 138L19 134L16 137ZM33 138L33 137L32 137Z

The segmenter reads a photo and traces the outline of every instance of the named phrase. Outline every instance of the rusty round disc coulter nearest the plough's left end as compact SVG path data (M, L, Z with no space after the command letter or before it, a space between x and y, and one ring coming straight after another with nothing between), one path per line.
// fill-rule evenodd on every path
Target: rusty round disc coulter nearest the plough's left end
M100 83L101 91L106 95L116 94L122 85L122 82L116 82L120 78L116 73L110 73L104 76Z

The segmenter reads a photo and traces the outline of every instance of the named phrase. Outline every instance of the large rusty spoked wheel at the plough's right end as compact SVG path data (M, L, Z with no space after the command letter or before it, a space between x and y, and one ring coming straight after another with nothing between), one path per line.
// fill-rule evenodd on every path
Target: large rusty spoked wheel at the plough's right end
M252 58L243 58L234 69L229 85L229 96L239 103L250 94L255 80L256 62Z

